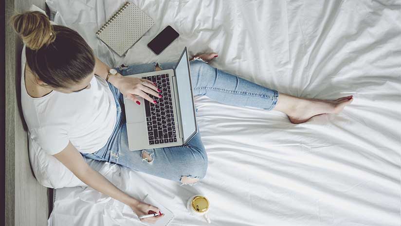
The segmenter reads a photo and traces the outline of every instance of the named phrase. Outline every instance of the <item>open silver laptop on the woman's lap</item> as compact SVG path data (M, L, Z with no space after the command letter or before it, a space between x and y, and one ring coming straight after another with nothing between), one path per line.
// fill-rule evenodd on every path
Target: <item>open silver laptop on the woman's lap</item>
M174 69L128 76L150 80L162 90L157 104L138 97L143 103L138 105L124 98L129 150L180 146L197 134L186 47Z

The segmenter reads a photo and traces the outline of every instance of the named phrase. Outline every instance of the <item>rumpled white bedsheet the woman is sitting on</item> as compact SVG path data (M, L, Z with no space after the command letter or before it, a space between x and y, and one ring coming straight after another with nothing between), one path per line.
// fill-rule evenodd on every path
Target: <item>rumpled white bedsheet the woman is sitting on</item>
M212 65L292 95L354 95L339 115L291 124L277 111L197 97L209 157L206 177L186 187L109 164L128 194L172 209L172 225L208 225L184 203L202 193L213 226L400 226L401 1L132 0L156 24L125 58L95 31L123 0L46 0L110 66L218 52ZM180 37L160 56L146 44L166 25ZM118 34L116 34L118 38ZM56 191L51 226L141 225L91 188Z

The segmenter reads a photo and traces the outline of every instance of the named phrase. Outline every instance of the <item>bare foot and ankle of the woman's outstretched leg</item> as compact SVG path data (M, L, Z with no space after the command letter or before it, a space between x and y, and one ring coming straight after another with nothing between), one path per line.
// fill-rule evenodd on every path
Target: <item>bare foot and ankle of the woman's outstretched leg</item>
M316 115L338 114L344 107L351 104L353 96L341 97L335 101L304 99L280 93L274 110L287 114L292 123L307 122Z

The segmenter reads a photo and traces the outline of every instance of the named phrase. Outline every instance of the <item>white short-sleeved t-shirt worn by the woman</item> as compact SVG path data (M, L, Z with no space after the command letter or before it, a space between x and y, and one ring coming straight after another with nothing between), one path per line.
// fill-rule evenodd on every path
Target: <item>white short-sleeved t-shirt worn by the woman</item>
M21 54L21 103L29 139L49 155L61 152L69 141L81 153L93 153L108 141L116 121L116 104L106 80L94 76L91 87L76 93L33 98L25 87L25 46Z

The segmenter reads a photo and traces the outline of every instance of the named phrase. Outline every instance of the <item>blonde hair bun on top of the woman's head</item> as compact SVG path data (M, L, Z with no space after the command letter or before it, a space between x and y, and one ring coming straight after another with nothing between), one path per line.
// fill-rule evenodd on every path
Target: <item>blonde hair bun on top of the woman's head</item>
M29 11L11 17L14 30L32 50L39 50L55 40L55 31L49 18L38 11Z

